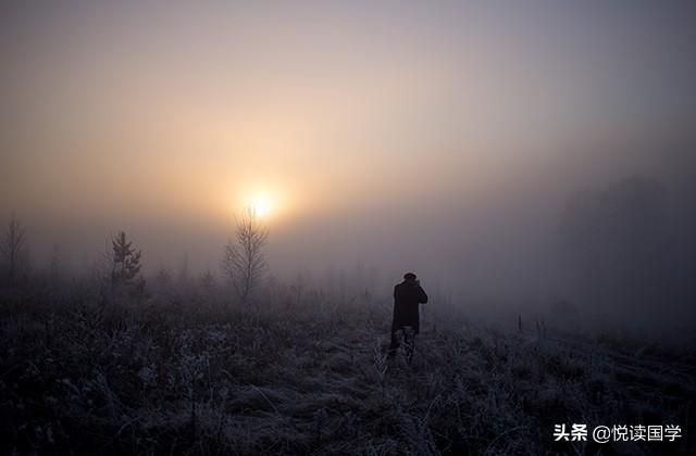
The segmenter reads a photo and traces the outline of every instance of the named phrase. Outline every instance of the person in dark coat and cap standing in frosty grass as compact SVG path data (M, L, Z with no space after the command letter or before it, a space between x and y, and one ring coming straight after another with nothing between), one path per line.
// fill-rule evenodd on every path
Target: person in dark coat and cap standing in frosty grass
M415 334L419 332L419 304L427 302L427 294L421 288L415 274L403 275L403 281L394 287L394 319L391 320L391 344L388 357L393 358L400 345L401 335L405 340L406 360L411 364Z

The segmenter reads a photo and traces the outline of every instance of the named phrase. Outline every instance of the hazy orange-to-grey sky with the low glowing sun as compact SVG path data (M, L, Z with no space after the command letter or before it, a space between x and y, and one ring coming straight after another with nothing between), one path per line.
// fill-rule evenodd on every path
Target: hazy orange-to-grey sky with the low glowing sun
M569 189L692 164L693 2L28 3L0 7L0 215L37 263L126 229L216 270L262 195L277 271L475 280L542 255L515 239Z

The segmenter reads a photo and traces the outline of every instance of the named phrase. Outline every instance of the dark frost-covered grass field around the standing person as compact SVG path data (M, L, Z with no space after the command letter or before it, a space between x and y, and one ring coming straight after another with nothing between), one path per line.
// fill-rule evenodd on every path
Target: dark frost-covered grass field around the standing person
M390 304L284 293L238 309L210 290L3 292L0 451L695 454L687 350L539 338L428 311L409 367L385 359ZM563 422L675 423L685 435L554 443Z

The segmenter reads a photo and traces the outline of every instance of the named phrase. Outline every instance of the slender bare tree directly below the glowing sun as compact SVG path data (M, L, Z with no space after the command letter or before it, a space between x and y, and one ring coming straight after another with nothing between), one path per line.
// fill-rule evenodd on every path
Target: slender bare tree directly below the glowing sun
M253 207L246 207L237 218L235 238L225 245L222 269L232 282L241 304L247 304L265 276L268 261L263 248L268 229L259 220Z

